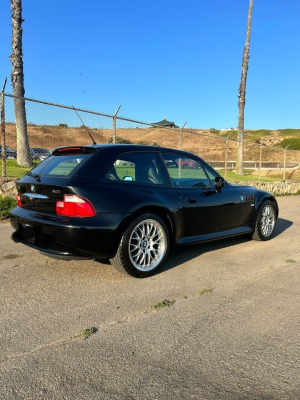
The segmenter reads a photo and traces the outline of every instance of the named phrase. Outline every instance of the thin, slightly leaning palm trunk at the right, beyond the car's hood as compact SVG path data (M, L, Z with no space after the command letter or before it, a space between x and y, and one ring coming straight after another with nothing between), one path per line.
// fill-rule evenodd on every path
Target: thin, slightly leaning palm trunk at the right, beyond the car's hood
M249 12L248 12L248 24L247 24L247 35L246 44L244 47L243 60L242 60L242 76L241 83L239 86L239 117L238 117L238 143L237 143L237 162L236 162L236 173L243 175L243 161L244 161L244 113L246 104L246 82L247 72L249 63L249 47L250 47L250 34L251 34L251 20L252 20L252 8L253 0L250 0Z

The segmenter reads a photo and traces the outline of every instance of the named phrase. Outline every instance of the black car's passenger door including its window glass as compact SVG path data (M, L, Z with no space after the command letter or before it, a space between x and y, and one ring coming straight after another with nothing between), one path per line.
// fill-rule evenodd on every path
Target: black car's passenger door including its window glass
M228 185L216 191L213 171L209 171L209 176L208 168L196 159L174 157L169 153L162 156L184 208L185 236L199 236L236 226L240 196L232 187ZM183 165L185 168L181 167Z

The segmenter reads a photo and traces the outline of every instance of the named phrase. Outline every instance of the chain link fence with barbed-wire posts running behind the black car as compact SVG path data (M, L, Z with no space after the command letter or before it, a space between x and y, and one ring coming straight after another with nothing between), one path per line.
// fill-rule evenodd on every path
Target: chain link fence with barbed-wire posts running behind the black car
M17 108L25 107L26 124L16 124ZM230 180L300 180L300 151L266 145L263 137L244 141L243 177L235 174L237 132L203 131L144 123L1 93L2 177L21 177L51 154L53 148L96 143L134 143L178 148L199 155ZM22 132L26 133L28 145ZM253 131L255 133L255 131ZM253 134L254 138L255 135ZM257 143L257 142L260 143ZM24 148L27 149L24 156Z

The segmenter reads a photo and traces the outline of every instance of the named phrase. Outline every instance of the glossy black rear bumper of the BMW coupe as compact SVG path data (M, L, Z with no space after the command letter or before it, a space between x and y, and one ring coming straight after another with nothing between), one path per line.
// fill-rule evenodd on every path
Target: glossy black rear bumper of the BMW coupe
M127 216L64 218L16 207L10 212L12 239L60 259L112 258L121 239L120 224Z

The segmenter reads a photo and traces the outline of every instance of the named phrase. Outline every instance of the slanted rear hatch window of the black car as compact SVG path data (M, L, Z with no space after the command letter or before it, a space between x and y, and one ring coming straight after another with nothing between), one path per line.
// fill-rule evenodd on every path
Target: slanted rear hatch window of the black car
M41 162L30 172L49 177L72 176L92 156L92 154L52 156Z

